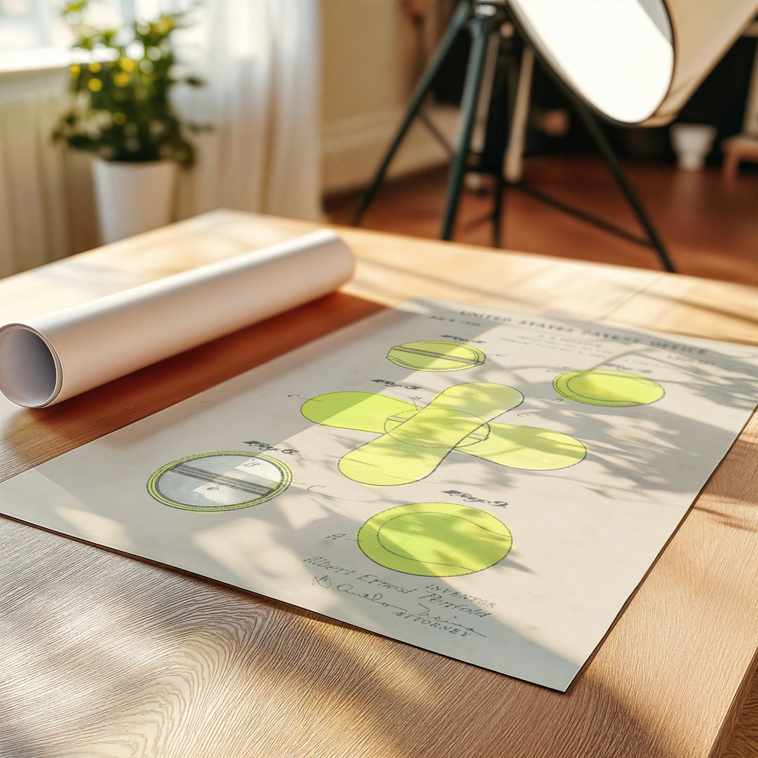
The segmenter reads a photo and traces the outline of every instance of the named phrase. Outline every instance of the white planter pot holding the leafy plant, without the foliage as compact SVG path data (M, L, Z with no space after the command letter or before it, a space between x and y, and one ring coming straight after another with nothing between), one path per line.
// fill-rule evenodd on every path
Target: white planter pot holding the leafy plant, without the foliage
M174 161L92 161L95 200L104 243L123 240L164 224L174 212Z

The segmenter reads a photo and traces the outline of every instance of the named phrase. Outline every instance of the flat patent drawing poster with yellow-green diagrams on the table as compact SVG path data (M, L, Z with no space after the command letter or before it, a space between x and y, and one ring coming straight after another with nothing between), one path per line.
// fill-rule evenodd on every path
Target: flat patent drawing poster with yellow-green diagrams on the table
M758 352L415 301L0 485L0 510L565 691Z

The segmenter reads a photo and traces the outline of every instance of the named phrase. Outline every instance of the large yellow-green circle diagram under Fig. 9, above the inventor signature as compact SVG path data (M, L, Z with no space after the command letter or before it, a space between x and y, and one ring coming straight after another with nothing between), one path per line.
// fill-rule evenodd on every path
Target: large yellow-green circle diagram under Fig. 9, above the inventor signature
M491 513L456 503L412 503L369 518L358 547L372 561L416 576L462 576L511 550L510 529Z

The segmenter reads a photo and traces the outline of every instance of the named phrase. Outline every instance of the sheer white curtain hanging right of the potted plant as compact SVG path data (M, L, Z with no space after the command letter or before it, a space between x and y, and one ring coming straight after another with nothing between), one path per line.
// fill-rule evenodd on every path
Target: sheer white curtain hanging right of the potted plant
M183 177L182 217L225 207L321 218L318 0L208 0L189 66L206 86L182 93L187 117L211 128ZM192 52L200 55L192 55Z

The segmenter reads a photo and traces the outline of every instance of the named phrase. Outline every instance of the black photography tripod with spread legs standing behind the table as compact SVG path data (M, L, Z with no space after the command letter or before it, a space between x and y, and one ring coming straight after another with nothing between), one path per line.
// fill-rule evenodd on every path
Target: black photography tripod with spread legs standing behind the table
M453 11L453 15L450 17L449 23L447 24L440 45L437 48L437 52L435 52L434 58L432 59L431 64L429 64L427 70L424 71L421 81L418 83L412 96L406 116L403 119L402 124L400 124L392 143L390 143L384 158L382 158L381 164L374 175L374 179L371 181L371 184L362 196L353 223L356 225L360 223L366 209L374 200L374 196L376 196L381 183L384 181L384 176L387 173L390 161L392 161L393 156L402 143L402 139L406 136L409 127L417 116L421 117L424 124L430 127L434 136L437 137L437 139L442 140L444 143L444 140L441 138L437 130L435 130L433 125L423 117L423 114L421 114L421 105L431 91L434 78L437 76L438 71L453 48L453 42L456 40L456 37L468 27L469 33L471 34L471 51L468 55L468 64L466 67L460 102L461 125L458 146L456 149L452 149L445 143L445 146L453 155L453 164L449 174L446 205L443 214L440 238L443 240L452 240L463 186L463 178L468 171L475 171L479 174L493 174L494 177L494 207L491 217L493 221L494 246L500 246L503 193L506 187L511 187L512 189L518 189L521 192L527 193L542 202L546 202L559 210L575 215L583 221L587 221L587 223L594 224L610 233L621 236L626 240L652 248L658 255L662 268L664 268L665 271L675 271L671 259L666 252L666 248L663 246L662 240L658 236L658 233L656 233L653 224L650 222L650 218L647 216L647 212L640 199L637 197L637 193L634 192L634 188L631 186L631 183L629 183L629 180L619 163L619 159L616 157L615 152L606 138L605 133L601 130L600 125L597 124L594 115L590 112L590 108L588 108L588 106L585 105L584 102L581 101L571 89L568 89L568 86L565 86L557 77L556 81L559 83L560 88L568 98L568 102L581 118L584 127L587 128L594 143L597 145L600 155L602 155L606 162L612 177L615 179L616 184L625 196L631 211L634 213L638 224L640 224L646 236L637 236L622 227L618 227L615 224L603 220L602 218L598 218L597 216L582 211L579 208L574 208L571 205L541 192L539 189L529 186L520 179L513 180L510 177L503 176L503 158L506 155L506 150L509 149L509 142L511 143L511 148L514 147L514 137L516 138L515 142L518 143L518 128L515 127L518 127L519 124L514 124L514 118L519 105L519 93L517 90L521 84L519 82L519 74L521 73L522 66L521 54L524 46L528 45L528 40L525 40L523 35L517 35L514 33L510 37L504 37L500 33L500 28L506 22L512 23L515 29L518 30L518 26L514 23L514 20L509 13L507 0L459 0L458 5L456 5L455 10ZM507 124L500 130L500 134L496 136L496 143L493 146L493 152L500 158L500 160L493 161L493 165L487 168L481 164L481 160L478 161L480 156L472 153L471 136L473 134L480 105L480 94L485 65L487 63L488 55L493 54L500 55L500 58L505 61L505 66L507 68ZM549 67L547 67L547 69L550 70ZM523 90L521 94L521 110L523 111ZM523 124L521 124L521 128L523 128ZM520 149L520 146L518 146L518 149Z

